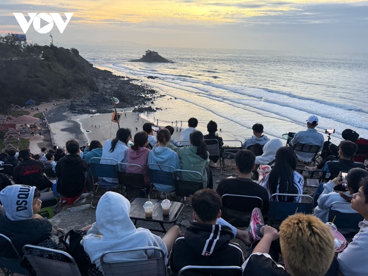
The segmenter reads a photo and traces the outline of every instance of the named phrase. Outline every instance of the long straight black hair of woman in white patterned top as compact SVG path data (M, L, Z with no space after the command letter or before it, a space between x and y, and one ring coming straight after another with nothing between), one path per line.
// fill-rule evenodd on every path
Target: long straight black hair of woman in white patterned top
M279 185L280 194L298 194L294 183L294 171L297 169L297 158L292 148L283 146L276 152L275 165L269 173L267 190L276 194Z

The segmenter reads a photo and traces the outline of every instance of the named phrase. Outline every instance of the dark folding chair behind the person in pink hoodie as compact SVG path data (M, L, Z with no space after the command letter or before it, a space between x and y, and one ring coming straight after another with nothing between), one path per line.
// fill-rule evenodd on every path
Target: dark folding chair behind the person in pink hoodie
M126 166L130 167L138 167L141 170L141 173L127 173L126 171L121 171L119 168ZM138 164L128 164L128 163L117 163L117 178L119 185L123 185L125 190L127 191L127 196L129 193L129 189L139 189L144 191L144 197L146 197L146 186L144 184L144 176L143 169ZM124 194L124 192L123 192Z

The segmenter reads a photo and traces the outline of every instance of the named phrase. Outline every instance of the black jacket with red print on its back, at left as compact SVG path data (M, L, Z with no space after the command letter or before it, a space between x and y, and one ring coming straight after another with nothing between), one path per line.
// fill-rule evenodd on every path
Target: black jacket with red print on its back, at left
M52 187L52 182L45 176L45 166L39 160L24 159L14 168L15 184L36 186L39 190Z

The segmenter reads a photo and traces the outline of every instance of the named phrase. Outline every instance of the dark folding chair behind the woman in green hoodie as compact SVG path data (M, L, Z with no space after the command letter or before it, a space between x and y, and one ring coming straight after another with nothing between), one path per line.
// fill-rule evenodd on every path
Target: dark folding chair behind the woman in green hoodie
M179 174L186 173L186 174L193 174L198 176L197 181L186 181L180 180ZM203 189L203 177L202 174L198 171L188 171L188 170L174 170L174 184L175 184L175 193L176 196L179 197L179 202L181 201L182 197L189 197L190 195L194 194L198 190ZM200 182L199 182L200 181Z

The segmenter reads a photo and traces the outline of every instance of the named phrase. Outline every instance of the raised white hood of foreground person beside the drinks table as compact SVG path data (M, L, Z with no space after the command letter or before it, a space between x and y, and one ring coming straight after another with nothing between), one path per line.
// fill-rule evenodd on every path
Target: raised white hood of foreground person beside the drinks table
M96 227L104 239L119 239L135 233L134 224L129 218L130 202L117 192L106 192L96 208Z

